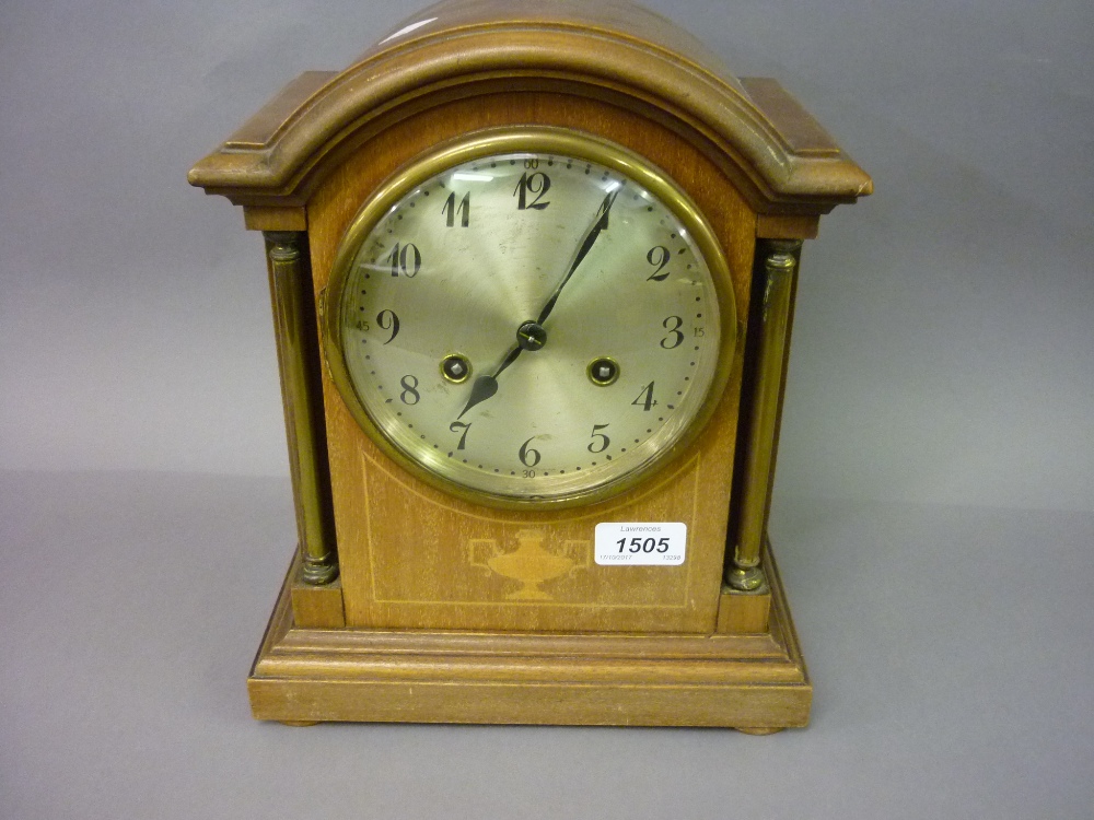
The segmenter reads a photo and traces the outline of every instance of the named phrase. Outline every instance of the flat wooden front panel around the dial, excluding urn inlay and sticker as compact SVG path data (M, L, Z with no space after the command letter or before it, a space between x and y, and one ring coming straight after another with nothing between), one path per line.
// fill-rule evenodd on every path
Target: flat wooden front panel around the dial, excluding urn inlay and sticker
M747 315L755 215L719 168L675 131L641 114L569 94L493 93L445 102L363 142L307 206L316 293L365 198L422 151L509 124L566 126L618 142L673 177L708 214L726 251L738 316ZM318 297L318 295L317 295ZM723 333L744 338L744 325ZM706 433L642 488L570 512L487 509L441 493L387 459L350 415L324 374L327 440L346 622L351 626L711 632L724 561L743 345ZM673 520L688 526L680 567L596 566L602 520ZM513 552L522 535L573 567L542 589L550 600L513 599L519 582L484 569L484 552ZM538 534L538 535L536 535ZM478 554L477 552L478 551ZM549 586L549 588L548 588Z

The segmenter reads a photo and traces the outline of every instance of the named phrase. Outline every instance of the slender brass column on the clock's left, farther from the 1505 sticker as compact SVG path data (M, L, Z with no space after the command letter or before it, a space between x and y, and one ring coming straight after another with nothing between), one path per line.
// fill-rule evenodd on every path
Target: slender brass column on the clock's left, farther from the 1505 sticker
M328 584L338 577L338 558L321 398L318 337L306 257L307 234L269 231L264 236L302 575L307 584Z

